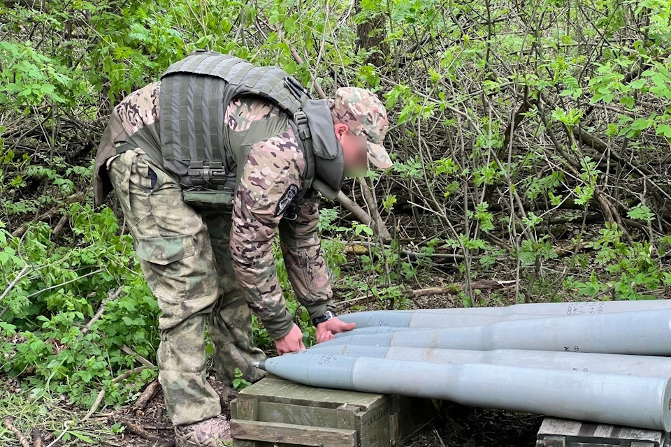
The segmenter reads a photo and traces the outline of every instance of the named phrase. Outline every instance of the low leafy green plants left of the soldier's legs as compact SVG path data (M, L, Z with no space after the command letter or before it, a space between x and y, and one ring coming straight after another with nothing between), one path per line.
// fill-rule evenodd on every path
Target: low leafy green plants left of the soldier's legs
M95 390L104 387L106 404L119 404L154 379L155 372L147 370L134 386L112 382L118 372L134 366L134 359L121 351L124 344L154 357L157 303L137 267L128 270L132 243L128 235L117 235L110 210L96 213L90 205L71 205L68 212L74 233L80 235L76 249L55 246L44 223L31 228L23 240L0 230L8 242L0 259L3 275L17 280L3 300L11 323L1 326L1 349L10 361L1 369L13 375L30 372L24 381L38 395L64 394L73 404L91 404ZM24 261L31 266L27 270L22 269ZM117 278L126 284L121 297L108 302L103 318L85 330L93 305L108 298ZM9 343L13 335L23 341Z

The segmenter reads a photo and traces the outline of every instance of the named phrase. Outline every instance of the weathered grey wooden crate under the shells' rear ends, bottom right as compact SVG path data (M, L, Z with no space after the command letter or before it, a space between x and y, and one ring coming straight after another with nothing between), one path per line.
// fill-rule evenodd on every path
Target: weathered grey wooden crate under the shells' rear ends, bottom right
M545 418L536 447L668 447L669 434L620 425Z

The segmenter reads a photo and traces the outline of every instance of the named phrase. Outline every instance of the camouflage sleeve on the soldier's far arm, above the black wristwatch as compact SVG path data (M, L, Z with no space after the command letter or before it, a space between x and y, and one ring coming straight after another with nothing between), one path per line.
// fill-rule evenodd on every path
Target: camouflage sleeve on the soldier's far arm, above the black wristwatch
M331 269L324 261L322 241L319 240L319 196L307 200L298 208L296 220L282 219L280 242L284 265L296 298L310 318L324 316L331 301Z

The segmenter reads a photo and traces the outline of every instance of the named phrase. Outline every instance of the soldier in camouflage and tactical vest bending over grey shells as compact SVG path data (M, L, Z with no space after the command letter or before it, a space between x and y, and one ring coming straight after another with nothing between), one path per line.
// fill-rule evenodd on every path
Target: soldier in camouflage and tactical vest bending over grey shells
M96 204L116 191L161 315L159 381L178 446L231 439L206 381L213 368L248 381L264 353L250 309L282 355L305 349L273 263L276 231L296 298L317 342L352 330L331 309L331 272L317 233L320 193L335 198L368 161L389 168L387 113L370 91L315 101L277 67L195 52L117 105L96 154Z

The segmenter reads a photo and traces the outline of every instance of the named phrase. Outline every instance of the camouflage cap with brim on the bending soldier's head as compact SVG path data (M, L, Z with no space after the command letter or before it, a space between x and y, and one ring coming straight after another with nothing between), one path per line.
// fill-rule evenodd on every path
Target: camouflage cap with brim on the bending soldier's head
M373 92L356 87L340 87L335 91L333 115L347 124L354 135L366 135L368 161L377 168L391 168L391 159L382 146L389 129L387 110Z

